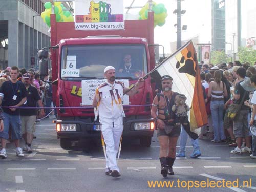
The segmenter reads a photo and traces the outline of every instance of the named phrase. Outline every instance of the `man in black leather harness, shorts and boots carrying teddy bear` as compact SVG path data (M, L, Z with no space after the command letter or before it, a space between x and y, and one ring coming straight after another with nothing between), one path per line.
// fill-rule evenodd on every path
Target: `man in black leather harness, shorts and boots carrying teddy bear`
M174 175L173 164L175 161L176 144L180 135L180 124L176 124L177 116L172 111L175 97L179 95L172 91L173 78L169 75L161 77L163 92L156 95L151 108L151 116L155 119L157 126L157 137L160 143L159 159L161 163L161 174ZM158 114L157 114L158 112Z

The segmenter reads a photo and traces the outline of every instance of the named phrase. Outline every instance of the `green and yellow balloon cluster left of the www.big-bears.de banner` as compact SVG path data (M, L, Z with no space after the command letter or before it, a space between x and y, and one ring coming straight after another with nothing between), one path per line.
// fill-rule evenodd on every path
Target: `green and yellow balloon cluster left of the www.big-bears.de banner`
M45 11L41 13L42 19L50 27L51 26L51 13L52 3L46 2L44 4ZM74 18L69 11L65 11L66 7L61 2L54 2L54 14L56 14L56 22L74 22Z

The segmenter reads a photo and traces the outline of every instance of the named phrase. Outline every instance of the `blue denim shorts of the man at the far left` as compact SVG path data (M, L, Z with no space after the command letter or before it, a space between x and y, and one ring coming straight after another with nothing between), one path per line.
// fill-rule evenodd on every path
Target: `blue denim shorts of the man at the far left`
M19 115L10 115L3 112L4 131L0 132L0 138L9 139L9 126L11 125L13 140L22 139L22 122Z

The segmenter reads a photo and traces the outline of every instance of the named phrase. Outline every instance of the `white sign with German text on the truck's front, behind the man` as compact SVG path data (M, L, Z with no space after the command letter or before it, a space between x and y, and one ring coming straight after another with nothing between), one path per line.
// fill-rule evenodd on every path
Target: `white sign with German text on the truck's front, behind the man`
M118 81L124 83L126 88L129 87L129 80L127 79L118 79ZM106 79L91 79L91 80L82 80L82 106L92 105L93 97L95 95L96 88L100 86L100 84L106 82ZM123 105L129 104L129 96L123 96Z

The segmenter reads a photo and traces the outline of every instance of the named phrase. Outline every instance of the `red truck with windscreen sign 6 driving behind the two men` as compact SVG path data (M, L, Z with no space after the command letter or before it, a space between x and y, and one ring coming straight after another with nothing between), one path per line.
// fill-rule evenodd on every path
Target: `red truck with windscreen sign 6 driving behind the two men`
M92 100L96 87L104 81L103 69L112 65L116 78L132 86L155 67L154 18L125 20L124 30L75 30L74 22L55 22L51 15L51 66L53 101L57 107L56 130L62 148L71 141L100 138L100 125L94 121ZM45 48L47 49L47 48ZM134 71L119 73L123 57L132 57ZM42 57L40 57L42 58ZM46 68L39 62L42 71ZM46 70L45 70L46 71ZM150 146L154 120L150 115L154 83L146 78L140 93L124 99L126 115L123 137L140 139Z

